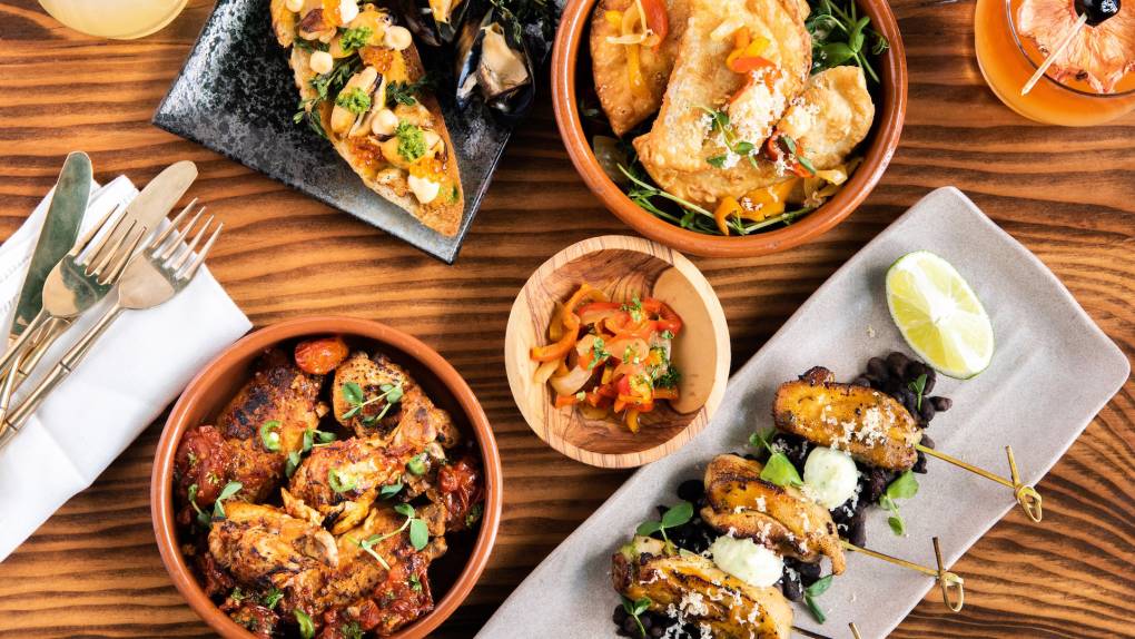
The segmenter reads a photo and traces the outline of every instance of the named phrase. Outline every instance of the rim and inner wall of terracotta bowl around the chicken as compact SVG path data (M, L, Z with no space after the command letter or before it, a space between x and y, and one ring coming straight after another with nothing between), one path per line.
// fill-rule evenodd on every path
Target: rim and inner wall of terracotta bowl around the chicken
M224 637L253 639L205 596L182 555L174 523L174 453L186 429L208 422L236 394L250 377L252 361L264 348L321 335L343 335L352 347L381 350L388 354L406 368L430 398L449 411L464 434L479 445L486 503L477 537L453 536L449 552L430 567L436 607L393 636L400 639L426 637L461 605L488 563L501 521L501 457L488 418L457 371L417 338L375 321L314 317L272 325L229 346L190 382L166 422L151 478L150 511L161 560L174 585L205 623Z

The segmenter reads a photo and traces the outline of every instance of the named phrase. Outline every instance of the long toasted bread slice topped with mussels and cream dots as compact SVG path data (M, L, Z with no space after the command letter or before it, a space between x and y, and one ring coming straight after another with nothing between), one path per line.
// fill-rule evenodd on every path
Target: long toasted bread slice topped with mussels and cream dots
M422 86L426 72L409 31L373 5L345 25L313 0L299 12L279 0L270 9L277 41L292 49L288 62L312 127L371 191L442 235L456 235L465 208L457 158L442 109ZM328 54L329 72L312 68L316 56L326 66Z

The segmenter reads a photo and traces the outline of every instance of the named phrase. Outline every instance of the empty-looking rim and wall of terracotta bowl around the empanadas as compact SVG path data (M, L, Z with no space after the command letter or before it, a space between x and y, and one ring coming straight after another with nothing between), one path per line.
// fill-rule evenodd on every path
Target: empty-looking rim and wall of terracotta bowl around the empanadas
M604 205L642 235L696 255L739 258L764 255L808 242L840 224L871 193L890 163L899 144L907 111L907 59L902 36L888 0L857 0L872 26L886 36L891 48L873 65L882 87L875 93L875 123L863 148L864 161L843 188L822 207L793 221L791 226L743 237L705 235L686 230L642 210L607 177L591 141L583 132L577 81L591 82L588 64L580 64L580 47L588 48L591 12L598 0L568 0L552 54L552 98L556 123L575 170ZM589 54L582 56L586 60Z

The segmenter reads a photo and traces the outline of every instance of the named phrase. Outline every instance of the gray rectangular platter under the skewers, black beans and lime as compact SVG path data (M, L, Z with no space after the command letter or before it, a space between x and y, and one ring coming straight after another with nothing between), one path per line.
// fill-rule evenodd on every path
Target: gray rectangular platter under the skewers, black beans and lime
M1003 448L1011 445L1024 481L1039 481L1118 392L1129 364L1035 255L961 192L940 188L840 268L732 377L709 427L634 473L516 588L479 637L614 637L612 553L639 522L657 516L655 505L678 501L678 484L699 478L716 454L745 451L754 429L771 426L779 384L813 365L848 380L873 355L909 352L888 312L883 278L894 260L920 249L962 272L997 337L983 373L968 381L939 377L934 394L953 398L953 409L936 417L927 434L940 451L1006 476ZM918 495L901 502L907 536L896 537L875 508L868 546L934 565L931 537L938 536L949 566L1016 502L1011 490L944 462L930 460L928 471L917 476ZM864 637L885 637L932 586L928 577L851 553L847 572L819 598L827 622L817 624L799 606L794 622L850 637L854 621Z

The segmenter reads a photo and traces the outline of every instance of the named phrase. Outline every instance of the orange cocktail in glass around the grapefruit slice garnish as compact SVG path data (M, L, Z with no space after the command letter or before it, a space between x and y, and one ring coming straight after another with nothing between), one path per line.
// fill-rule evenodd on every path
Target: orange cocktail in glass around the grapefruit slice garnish
M1135 110L1135 74L1127 74L1115 93L1099 93L1081 79L1041 78L1027 95L1020 87L1044 61L1032 41L1017 30L1023 0L977 0L974 40L977 64L993 93L1026 118L1063 126L1102 124ZM1069 0L1070 2L1071 0ZM1132 9L1126 9L1132 10Z

